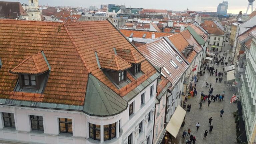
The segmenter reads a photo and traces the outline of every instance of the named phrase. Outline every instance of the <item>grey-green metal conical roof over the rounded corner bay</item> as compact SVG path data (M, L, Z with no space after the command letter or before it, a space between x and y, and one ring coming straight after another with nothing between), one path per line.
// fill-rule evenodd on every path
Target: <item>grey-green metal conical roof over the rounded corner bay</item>
M109 116L124 111L128 103L89 74L83 111L89 115Z

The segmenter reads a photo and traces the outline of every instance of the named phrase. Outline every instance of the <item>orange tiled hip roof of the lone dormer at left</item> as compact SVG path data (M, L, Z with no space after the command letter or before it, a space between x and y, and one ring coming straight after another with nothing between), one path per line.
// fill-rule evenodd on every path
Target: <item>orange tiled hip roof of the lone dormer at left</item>
M47 63L48 61L44 57L44 53L40 52L33 56L29 56L27 59L9 71L12 73L42 74L50 70Z

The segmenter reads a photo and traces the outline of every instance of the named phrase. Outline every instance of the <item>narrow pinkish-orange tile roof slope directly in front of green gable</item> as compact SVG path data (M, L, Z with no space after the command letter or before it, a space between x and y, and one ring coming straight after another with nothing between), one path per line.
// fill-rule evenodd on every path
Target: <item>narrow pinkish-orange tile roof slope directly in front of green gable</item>
M191 33L188 30L185 30L181 32L182 36L187 40L189 45L194 46L194 50L199 53L203 48L201 45L194 39L194 37L191 35Z

